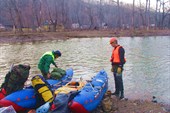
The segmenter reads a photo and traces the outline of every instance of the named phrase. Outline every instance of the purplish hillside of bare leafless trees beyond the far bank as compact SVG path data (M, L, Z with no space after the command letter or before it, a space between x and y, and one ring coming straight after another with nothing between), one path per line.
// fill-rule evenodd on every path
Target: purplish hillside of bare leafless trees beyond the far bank
M143 25L149 28L150 23L155 23L159 28L169 26L169 0L156 0L156 9L150 8L151 0L146 0L143 5L139 1L133 4L121 3L120 0L0 0L0 21L16 26L20 32L22 27L41 27L46 22L51 22L52 31L56 31L57 24L69 28L72 23L80 26L101 27L105 22L108 28L131 27ZM133 8L133 9L132 9ZM10 18L10 19L9 19Z

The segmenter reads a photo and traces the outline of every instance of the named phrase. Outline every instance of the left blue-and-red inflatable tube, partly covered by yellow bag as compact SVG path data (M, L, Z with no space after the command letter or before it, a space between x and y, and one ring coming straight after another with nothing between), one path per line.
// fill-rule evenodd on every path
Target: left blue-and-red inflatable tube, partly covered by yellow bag
M49 79L47 82L52 86L52 89L57 89L62 85L67 84L73 77L73 69L67 69L66 75L60 80ZM0 100L0 107L12 105L16 111L32 109L36 106L35 91L32 87L14 92Z

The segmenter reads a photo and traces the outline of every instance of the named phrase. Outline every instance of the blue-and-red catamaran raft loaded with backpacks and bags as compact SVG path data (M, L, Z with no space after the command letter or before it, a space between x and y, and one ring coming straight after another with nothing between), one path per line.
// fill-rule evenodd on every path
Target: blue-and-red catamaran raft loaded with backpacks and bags
M28 65L11 67L1 85L0 107L12 106L16 112L89 113L97 108L108 89L104 70L90 81L71 81L73 70L61 68L54 68L48 80L35 75L32 85L24 87L29 70Z

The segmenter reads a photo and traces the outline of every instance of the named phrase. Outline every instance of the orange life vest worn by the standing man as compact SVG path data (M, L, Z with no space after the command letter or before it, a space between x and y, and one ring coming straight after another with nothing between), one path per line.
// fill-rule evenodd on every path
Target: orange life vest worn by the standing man
M121 63L120 62L120 55L119 55L119 48L122 47L122 46L117 46L115 49L113 49L112 51L112 57L110 59L110 62L113 62L113 63ZM126 62L126 59L124 58L125 62Z

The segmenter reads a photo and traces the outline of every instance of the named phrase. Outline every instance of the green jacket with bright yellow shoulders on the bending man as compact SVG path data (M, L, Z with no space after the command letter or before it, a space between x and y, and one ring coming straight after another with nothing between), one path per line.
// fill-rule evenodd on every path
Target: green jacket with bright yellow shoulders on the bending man
M56 66L54 59L55 56L53 52L44 53L39 60L38 68L46 74L49 73L50 64L52 63L54 66Z

